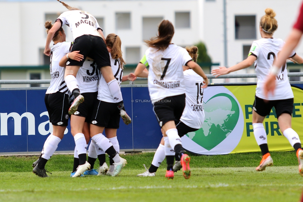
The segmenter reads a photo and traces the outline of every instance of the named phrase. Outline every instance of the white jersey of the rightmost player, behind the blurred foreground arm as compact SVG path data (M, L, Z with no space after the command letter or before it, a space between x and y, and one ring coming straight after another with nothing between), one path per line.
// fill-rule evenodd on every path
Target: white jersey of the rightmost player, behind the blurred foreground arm
M268 97L264 96L264 83L269 75L274 58L278 56L278 52L282 49L283 45L284 41L282 39L268 38L254 41L251 45L250 54L257 57L257 60L255 61L256 75L258 78L256 96L261 99L280 100L294 97L287 77L286 64L280 68L276 77L274 94L269 93ZM295 54L295 51L292 51L290 57L293 57Z

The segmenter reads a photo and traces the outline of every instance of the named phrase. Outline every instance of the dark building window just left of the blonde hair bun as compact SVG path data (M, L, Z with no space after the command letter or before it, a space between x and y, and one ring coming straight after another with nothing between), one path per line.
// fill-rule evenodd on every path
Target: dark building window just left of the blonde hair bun
M235 39L256 39L256 16L235 16Z

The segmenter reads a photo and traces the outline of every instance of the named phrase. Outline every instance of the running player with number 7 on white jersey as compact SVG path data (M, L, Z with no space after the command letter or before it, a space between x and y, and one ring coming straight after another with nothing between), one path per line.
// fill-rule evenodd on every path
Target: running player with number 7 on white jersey
M188 52L175 44L171 44L174 36L174 26L168 20L161 21L159 35L145 41L147 49L143 64L139 63L135 76L146 76L146 65L149 65L148 90L153 103L153 109L160 127L163 129L165 141L165 155L167 171L165 177L174 177L174 155L169 153L174 150L182 163L183 176L188 179L191 171L189 167L190 157L184 153L181 139L176 129L183 109L185 107L185 81L183 66L193 69L198 75L207 79L201 67L192 61ZM203 85L203 88L207 86Z

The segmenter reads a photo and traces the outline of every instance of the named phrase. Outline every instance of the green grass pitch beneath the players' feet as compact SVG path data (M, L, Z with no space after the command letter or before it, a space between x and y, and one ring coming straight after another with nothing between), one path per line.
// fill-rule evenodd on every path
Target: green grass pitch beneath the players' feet
M303 177L292 152L272 152L274 166L256 172L260 153L190 155L192 176L181 172L167 180L165 161L156 177L136 177L154 153L121 155L128 164L118 177L69 177L72 155L54 155L46 165L48 178L34 175L37 156L0 157L0 201L292 201L300 199ZM95 168L98 167L98 160Z

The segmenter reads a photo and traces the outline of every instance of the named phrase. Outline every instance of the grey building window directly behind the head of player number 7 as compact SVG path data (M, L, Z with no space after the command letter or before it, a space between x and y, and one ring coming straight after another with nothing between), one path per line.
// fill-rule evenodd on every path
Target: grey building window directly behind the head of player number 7
M143 17L142 36L143 40L149 40L158 33L158 26L163 17Z

